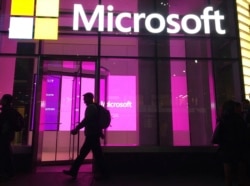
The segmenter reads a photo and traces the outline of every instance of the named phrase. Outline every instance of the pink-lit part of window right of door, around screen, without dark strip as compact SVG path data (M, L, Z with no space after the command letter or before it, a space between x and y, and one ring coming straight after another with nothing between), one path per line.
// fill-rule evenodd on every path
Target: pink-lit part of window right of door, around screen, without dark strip
M107 108L112 121L107 145L138 145L138 61L102 59L101 66L109 71Z

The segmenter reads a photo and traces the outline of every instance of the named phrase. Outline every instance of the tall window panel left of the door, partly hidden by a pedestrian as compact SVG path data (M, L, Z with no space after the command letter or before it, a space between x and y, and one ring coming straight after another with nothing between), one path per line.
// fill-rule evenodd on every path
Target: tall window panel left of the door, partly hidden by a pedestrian
M0 57L0 97L3 94L14 96L14 107L24 116L24 131L15 135L13 144L28 145L32 116L31 100L33 99L34 66L35 58ZM31 137L31 138L29 138ZM30 144L29 144L30 145Z

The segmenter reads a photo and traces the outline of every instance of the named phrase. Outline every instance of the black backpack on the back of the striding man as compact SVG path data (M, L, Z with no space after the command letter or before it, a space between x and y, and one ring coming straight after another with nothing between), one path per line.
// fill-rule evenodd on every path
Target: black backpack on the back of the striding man
M110 111L102 105L96 104L98 109L98 123L101 129L107 129L111 123Z

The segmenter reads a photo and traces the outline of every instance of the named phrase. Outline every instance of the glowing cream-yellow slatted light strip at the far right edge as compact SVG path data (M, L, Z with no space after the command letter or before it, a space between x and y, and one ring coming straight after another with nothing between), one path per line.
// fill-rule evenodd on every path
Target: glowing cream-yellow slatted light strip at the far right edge
M236 0L245 98L250 98L250 0Z

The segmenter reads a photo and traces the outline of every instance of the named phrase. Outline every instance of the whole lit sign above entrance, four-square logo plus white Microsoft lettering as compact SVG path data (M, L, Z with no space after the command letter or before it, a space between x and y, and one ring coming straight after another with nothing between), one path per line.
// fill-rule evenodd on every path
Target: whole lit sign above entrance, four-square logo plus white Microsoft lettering
M60 0L12 0L11 16L9 26L9 38L13 39L58 39L58 19ZM152 34L197 34L201 31L204 34L211 33L211 25L217 34L224 35L226 30L222 28L222 21L225 19L219 10L212 6L205 7L202 15L169 14L166 17L159 13L131 13L121 12L114 15L114 7L108 5L97 5L89 15L81 4L74 4L73 7L73 30L79 31L83 25L85 31L92 31L96 27L99 32L113 32L115 29L122 33L139 33L140 25L144 24L145 29ZM130 20L131 25L125 25L124 20ZM157 26L153 23L157 21ZM194 24L190 26L190 22Z

